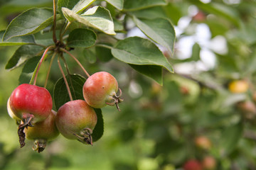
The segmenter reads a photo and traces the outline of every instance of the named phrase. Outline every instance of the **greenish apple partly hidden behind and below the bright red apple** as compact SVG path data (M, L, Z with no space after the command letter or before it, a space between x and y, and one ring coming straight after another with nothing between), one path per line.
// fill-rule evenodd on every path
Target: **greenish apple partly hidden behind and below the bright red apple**
M51 111L46 120L35 123L33 127L24 129L26 138L28 140L35 141L35 147L33 147L33 150L38 153L42 152L43 149L46 148L48 141L54 140L60 134L55 125L56 114L57 113L55 111Z

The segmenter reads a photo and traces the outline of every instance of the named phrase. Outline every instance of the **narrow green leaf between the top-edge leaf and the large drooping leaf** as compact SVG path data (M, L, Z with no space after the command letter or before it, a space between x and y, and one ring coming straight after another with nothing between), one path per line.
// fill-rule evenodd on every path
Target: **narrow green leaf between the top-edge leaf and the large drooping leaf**
M145 8L139 11L132 11L131 13L137 18L147 18L147 19L166 18L166 14L164 13L162 6Z

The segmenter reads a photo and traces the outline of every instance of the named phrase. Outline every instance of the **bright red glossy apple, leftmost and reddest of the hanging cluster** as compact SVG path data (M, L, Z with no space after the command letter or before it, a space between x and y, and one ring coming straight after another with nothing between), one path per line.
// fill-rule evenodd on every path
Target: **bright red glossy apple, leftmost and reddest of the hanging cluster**
M31 84L21 84L14 89L9 102L17 118L25 120L32 117L32 124L45 120L53 108L49 91Z

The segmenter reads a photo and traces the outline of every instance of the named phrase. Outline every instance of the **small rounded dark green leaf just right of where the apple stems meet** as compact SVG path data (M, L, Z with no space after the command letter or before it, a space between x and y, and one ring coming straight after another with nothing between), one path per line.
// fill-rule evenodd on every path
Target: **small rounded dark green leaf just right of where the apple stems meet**
M91 47L95 45L96 34L92 30L77 28L72 30L68 36L69 47Z

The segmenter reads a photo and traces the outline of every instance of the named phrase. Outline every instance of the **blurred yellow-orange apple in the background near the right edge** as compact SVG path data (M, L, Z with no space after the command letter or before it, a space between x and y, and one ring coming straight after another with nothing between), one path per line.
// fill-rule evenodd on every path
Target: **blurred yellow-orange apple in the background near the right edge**
M241 94L249 89L249 84L245 80L234 80L228 84L228 89L233 94Z

